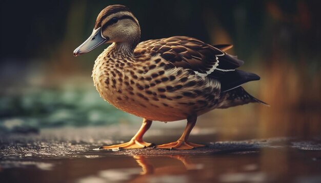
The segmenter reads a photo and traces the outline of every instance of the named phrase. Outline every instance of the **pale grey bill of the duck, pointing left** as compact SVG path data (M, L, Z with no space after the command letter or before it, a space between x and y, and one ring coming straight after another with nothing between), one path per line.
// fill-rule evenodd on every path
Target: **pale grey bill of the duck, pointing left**
M79 45L78 48L76 48L75 51L73 51L74 56L78 56L84 53L88 53L92 51L93 49L97 48L99 45L104 44L106 41L108 41L108 37L104 37L102 34L102 28L94 29L89 36L89 38Z

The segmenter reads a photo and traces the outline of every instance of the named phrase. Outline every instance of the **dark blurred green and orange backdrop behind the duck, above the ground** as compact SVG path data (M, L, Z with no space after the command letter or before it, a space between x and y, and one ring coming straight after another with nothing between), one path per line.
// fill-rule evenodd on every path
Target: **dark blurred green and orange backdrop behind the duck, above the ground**
M105 49L73 56L106 6L128 6L141 40L175 35L233 44L228 53L260 81L244 85L271 105L248 104L200 116L194 134L215 140L321 132L320 1L1 1L0 132L44 128L133 126L142 119L99 97L91 71ZM151 128L182 129L185 122ZM177 136L182 131L177 131Z

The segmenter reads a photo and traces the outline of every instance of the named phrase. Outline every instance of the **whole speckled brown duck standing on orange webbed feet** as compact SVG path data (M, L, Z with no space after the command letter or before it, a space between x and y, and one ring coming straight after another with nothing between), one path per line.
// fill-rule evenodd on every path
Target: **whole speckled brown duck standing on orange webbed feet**
M92 34L74 51L77 56L112 43L95 60L94 85L104 100L144 119L129 142L100 149L150 147L143 135L152 121L184 119L187 126L176 142L155 147L204 147L188 141L198 116L215 108L264 103L240 86L259 77L236 70L244 62L225 53L232 45L210 45L186 36L139 43L140 37L133 13L126 6L111 5L98 14Z

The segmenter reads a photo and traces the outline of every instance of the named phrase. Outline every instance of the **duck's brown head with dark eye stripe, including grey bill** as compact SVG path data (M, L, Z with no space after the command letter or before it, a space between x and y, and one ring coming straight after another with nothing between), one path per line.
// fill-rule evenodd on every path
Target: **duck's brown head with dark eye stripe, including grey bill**
M111 5L97 16L89 38L73 52L74 56L88 53L99 45L109 42L133 51L141 38L141 28L133 13L123 5Z

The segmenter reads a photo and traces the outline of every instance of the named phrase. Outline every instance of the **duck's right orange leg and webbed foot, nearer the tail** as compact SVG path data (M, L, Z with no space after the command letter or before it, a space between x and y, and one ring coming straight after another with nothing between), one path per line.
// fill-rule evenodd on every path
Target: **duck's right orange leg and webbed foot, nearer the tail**
M195 147L205 147L205 145L194 144L194 143L190 143L187 141L189 134L191 133L193 127L195 126L196 120L197 120L196 115L193 115L193 116L187 118L186 128L185 128L182 136L180 136L180 138L176 142L159 145L159 146L156 146L156 148L171 149L171 150L174 150L174 149L175 150L186 150L186 149L194 149Z

